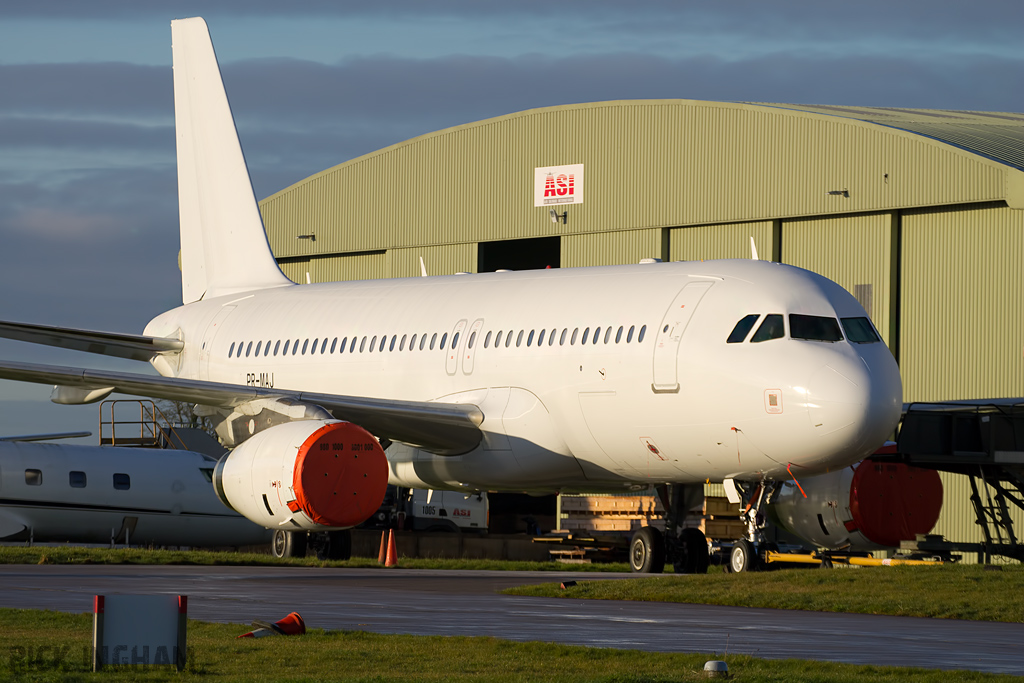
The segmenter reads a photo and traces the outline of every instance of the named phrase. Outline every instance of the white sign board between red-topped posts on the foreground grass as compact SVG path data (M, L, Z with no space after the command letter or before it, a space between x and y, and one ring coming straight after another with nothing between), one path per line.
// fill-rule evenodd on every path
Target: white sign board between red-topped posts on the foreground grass
M184 595L97 595L92 670L104 666L185 665L188 598Z

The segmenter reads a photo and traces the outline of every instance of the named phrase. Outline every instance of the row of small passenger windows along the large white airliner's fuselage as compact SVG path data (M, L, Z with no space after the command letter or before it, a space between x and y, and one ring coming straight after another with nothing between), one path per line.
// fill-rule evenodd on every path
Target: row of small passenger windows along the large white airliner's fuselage
M633 342L634 335L636 336L636 342L639 344L643 342L646 334L646 325L642 326L639 332L637 332L635 325L630 326L629 330L626 329L626 326L618 326L617 329L614 326L606 328L597 327L593 329L593 335L591 335L590 328L584 328L582 334L580 332L580 328L575 328L571 333L569 333L568 328L562 328L561 334L558 333L558 328L541 330L540 332L537 330L530 330L528 332L526 330L519 330L518 334L516 334L514 330L509 330L507 333L504 330L499 330L498 333L495 333L494 331L487 332L486 336L483 338L483 348L489 348L492 340L494 340L495 348L498 348L503 344L506 348L508 348L513 343L515 343L516 346L522 346L523 343L525 343L526 346L532 346L535 341L538 346L543 346L545 343L547 343L548 346L554 346L556 340L558 341L559 346L564 346L566 341L570 346L575 345L578 341L581 346L587 344L588 342L590 344L602 342L605 344L620 344L625 341L629 344ZM428 336L429 344L427 341ZM450 348L458 348L460 336L461 335L458 332L452 335L452 344ZM367 343L368 339L370 341L369 344ZM294 341L286 339L284 342L281 340L267 342L232 342L230 348L227 349L227 357L239 358L242 357L242 355L245 355L248 358L250 355L258 357L261 354L263 356L268 356L278 355L279 353L281 355L289 355L289 353L291 353L291 355L305 355L307 352L310 355L315 355L316 353L326 355L335 352L339 354L345 353L346 350L349 353L355 353L356 350L358 350L359 353L362 353L364 351L372 353L374 351L383 351L385 348L389 351L394 351L396 347L397 350L404 351L407 342L409 342L410 351L415 349L422 351L428 347L429 350L433 350L435 347L444 350L449 347L447 341L449 335L445 332L441 334L440 343L438 344L437 333L435 332L433 335L424 333L423 335L414 334L412 337L409 335L402 335L400 339L398 335L391 335L390 337L388 335L384 335L380 337L379 340L376 336L365 336L361 339L358 337L352 337L351 340L349 340L348 337L343 337L340 344L338 342L338 337L335 337L334 339L328 339L327 337L324 339L316 338L312 340L311 344L308 339L296 339ZM473 348L476 341L477 333L473 332L469 336L469 348Z

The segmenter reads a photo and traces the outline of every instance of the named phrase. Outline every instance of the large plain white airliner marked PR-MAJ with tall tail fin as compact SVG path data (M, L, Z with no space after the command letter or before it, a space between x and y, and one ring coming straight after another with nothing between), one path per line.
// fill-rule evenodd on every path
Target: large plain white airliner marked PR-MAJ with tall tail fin
M0 378L55 384L63 403L113 391L195 402L234 446L215 484L249 519L350 527L388 481L682 484L666 497L669 532L638 533L633 563L659 571L668 555L700 570L703 536L676 521L705 481L734 482L758 511L781 480L855 463L895 428L899 372L864 309L780 263L295 285L267 245L206 24L171 28L183 305L142 335L0 324L162 377L3 361Z

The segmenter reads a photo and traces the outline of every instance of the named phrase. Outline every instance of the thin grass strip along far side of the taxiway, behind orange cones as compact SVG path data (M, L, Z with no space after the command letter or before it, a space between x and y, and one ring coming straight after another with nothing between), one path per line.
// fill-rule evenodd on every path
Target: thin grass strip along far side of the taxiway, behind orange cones
M511 560L470 560L399 557L407 569L496 569L503 571L629 571L625 562L564 564ZM223 566L379 567L377 558L319 560L315 557L279 559L261 553L208 550L147 550L144 548L80 548L76 546L2 546L0 564L195 564Z

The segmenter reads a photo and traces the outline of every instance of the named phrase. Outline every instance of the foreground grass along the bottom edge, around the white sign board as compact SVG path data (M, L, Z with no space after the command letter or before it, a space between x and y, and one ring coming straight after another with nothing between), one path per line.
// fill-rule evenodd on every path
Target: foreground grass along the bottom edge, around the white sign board
M381 635L312 629L305 636L237 640L248 627L188 622L183 673L112 668L91 673L91 614L0 609L0 680L10 681L702 681L708 659L732 680L1012 681L975 672L865 667L716 653L681 654L517 643L497 638Z

